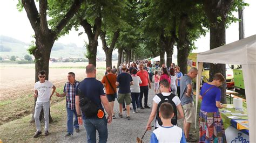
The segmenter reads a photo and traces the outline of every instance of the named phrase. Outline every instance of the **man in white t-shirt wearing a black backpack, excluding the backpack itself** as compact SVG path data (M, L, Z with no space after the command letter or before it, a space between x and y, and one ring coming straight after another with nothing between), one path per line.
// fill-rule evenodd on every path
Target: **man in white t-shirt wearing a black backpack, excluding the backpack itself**
M166 79L160 81L159 89L160 89L161 94L163 96L169 96L171 94L171 92L169 92L170 84L169 84L169 82ZM146 127L147 130L151 130L151 123L152 123L154 117L156 116L157 106L158 106L158 103L160 103L160 101L161 101L160 97L155 95L154 98L153 98L152 111L151 111L149 120L147 121L147 127ZM178 96L173 97L172 101L175 103L177 111L178 111L177 119L182 119L184 117L184 113L183 113L183 109L182 109L181 104L180 104L179 97ZM158 124L157 120L156 120L156 123L155 123L155 127L159 127L159 124Z

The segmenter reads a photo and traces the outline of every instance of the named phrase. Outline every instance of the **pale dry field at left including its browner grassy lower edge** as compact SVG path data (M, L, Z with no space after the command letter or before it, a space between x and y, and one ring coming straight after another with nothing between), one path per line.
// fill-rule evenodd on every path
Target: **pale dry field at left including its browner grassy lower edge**
M116 62L113 62L116 64ZM87 62L51 63L49 81L63 91L67 74L72 71L76 80L86 77ZM97 78L101 80L105 73L105 62L97 62ZM9 121L30 115L33 109L33 85L35 83L35 65L0 65L0 125ZM65 98L53 97L51 104L63 101Z

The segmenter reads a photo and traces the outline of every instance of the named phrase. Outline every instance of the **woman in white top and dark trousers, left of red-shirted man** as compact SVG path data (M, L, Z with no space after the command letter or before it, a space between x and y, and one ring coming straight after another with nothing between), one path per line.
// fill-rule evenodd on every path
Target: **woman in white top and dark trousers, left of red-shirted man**
M142 83L142 80L140 80L140 77L136 75L137 69L133 69L131 74L132 74L132 80L133 80L133 85L131 85L132 108L133 108L133 113L136 113L136 105L139 111L139 94L140 94L139 84Z

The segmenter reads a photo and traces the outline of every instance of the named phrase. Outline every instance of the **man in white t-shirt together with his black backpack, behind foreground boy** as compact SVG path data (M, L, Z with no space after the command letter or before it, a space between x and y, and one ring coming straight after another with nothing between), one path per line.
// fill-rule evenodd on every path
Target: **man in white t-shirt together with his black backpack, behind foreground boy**
M169 88L170 88L169 82L166 79L164 79L160 81L159 85L160 85L159 89L161 93L157 94L153 98L153 107L152 107L149 120L147 121L147 127L146 127L147 130L151 130L151 123L155 116L157 116L156 122L154 125L155 129L163 125L163 122L159 117L159 108L160 108L160 105L165 102L170 103L174 110L174 117L172 118L172 120L170 119L170 123L172 123L173 125L177 125L177 120L184 118L184 113L180 104L180 99L178 96L171 94L171 92L169 91Z

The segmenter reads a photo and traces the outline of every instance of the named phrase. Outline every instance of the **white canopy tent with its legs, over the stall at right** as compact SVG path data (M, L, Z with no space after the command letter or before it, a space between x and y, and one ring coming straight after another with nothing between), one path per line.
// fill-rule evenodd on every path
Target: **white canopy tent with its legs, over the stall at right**
M242 65L250 129L250 142L256 142L256 35L197 55L198 76L195 121L197 120L197 106L203 62Z

